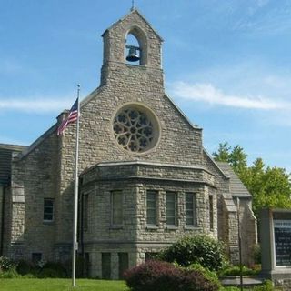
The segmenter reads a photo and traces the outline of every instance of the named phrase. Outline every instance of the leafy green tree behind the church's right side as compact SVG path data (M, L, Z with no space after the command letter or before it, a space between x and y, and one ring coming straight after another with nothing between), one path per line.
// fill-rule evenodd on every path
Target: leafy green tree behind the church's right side
M256 158L247 166L247 155L241 146L219 144L213 153L216 161L227 162L253 196L253 210L258 217L262 208L291 207L291 176L281 167L265 166L262 158Z

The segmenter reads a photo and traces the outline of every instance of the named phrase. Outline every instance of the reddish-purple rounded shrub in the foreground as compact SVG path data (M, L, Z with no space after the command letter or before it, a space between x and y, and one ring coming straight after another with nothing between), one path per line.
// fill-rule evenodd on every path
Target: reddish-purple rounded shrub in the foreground
M148 261L125 272L133 291L216 291L219 286L199 271L178 268L160 261Z

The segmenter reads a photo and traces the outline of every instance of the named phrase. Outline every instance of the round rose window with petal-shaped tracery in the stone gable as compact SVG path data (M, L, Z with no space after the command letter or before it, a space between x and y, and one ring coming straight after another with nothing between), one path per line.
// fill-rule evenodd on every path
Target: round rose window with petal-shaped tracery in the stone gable
M128 151L143 153L156 145L156 116L144 107L127 105L117 112L113 131L119 146Z

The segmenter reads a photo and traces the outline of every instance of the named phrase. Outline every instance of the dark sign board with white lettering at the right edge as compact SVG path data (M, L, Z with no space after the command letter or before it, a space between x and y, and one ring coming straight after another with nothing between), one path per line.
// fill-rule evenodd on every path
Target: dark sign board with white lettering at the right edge
M274 220L276 266L291 266L291 220Z

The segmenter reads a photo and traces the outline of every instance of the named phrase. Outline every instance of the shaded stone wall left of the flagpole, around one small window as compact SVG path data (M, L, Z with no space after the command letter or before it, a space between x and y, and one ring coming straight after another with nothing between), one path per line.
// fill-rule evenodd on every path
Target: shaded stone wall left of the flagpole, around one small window
M54 134L42 136L22 156L12 163L11 236L12 244L21 245L22 256L31 259L32 253L42 253L45 260L54 259L57 219L57 139ZM55 199L55 219L44 222L44 198ZM20 251L19 251L20 252Z

